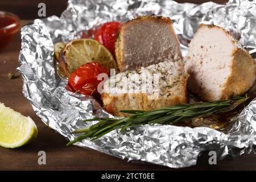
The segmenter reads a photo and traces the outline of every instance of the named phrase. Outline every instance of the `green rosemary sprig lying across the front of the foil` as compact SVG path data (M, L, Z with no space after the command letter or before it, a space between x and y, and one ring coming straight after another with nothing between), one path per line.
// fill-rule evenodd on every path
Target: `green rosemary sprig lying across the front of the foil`
M90 138L92 141L102 137L110 131L121 129L123 132L128 128L138 125L154 124L174 124L178 122L189 121L193 118L209 117L213 114L224 114L234 110L237 106L244 104L249 97L235 96L232 100L219 100L210 102L197 102L195 104L181 104L175 106L162 107L149 111L143 110L122 110L123 113L129 113L131 116L124 118L92 118L88 121L99 121L95 125L79 129L74 133L83 133L67 145L79 142L82 139Z

